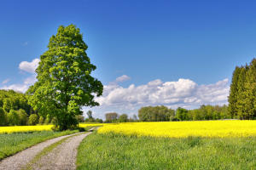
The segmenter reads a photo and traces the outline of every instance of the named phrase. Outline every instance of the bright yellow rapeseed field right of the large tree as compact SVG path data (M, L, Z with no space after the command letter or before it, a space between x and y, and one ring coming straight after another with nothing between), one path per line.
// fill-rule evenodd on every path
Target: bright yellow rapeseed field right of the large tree
M248 137L256 136L256 121L195 121L195 122L127 122L109 124L98 133L185 138L200 137Z

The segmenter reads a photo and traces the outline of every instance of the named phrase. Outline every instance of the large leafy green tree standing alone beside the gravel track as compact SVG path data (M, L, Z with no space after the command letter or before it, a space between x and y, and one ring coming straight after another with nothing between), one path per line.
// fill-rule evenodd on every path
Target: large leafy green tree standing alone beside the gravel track
M94 98L102 95L103 86L90 76L96 66L90 63L87 48L79 28L60 26L40 56L38 82L27 91L33 109L41 116L55 117L60 130L77 126L82 106L99 105Z

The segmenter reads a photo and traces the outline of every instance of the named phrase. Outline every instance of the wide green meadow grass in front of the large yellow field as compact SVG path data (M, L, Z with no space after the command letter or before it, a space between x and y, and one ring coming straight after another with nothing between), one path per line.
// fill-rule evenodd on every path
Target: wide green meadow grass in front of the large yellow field
M256 169L256 137L153 138L93 133L78 169Z

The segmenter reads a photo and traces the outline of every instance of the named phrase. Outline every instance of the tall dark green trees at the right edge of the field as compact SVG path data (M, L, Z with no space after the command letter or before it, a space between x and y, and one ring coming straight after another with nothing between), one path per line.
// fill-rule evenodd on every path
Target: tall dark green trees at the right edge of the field
M256 59L236 66L230 84L229 113L233 118L256 118Z

